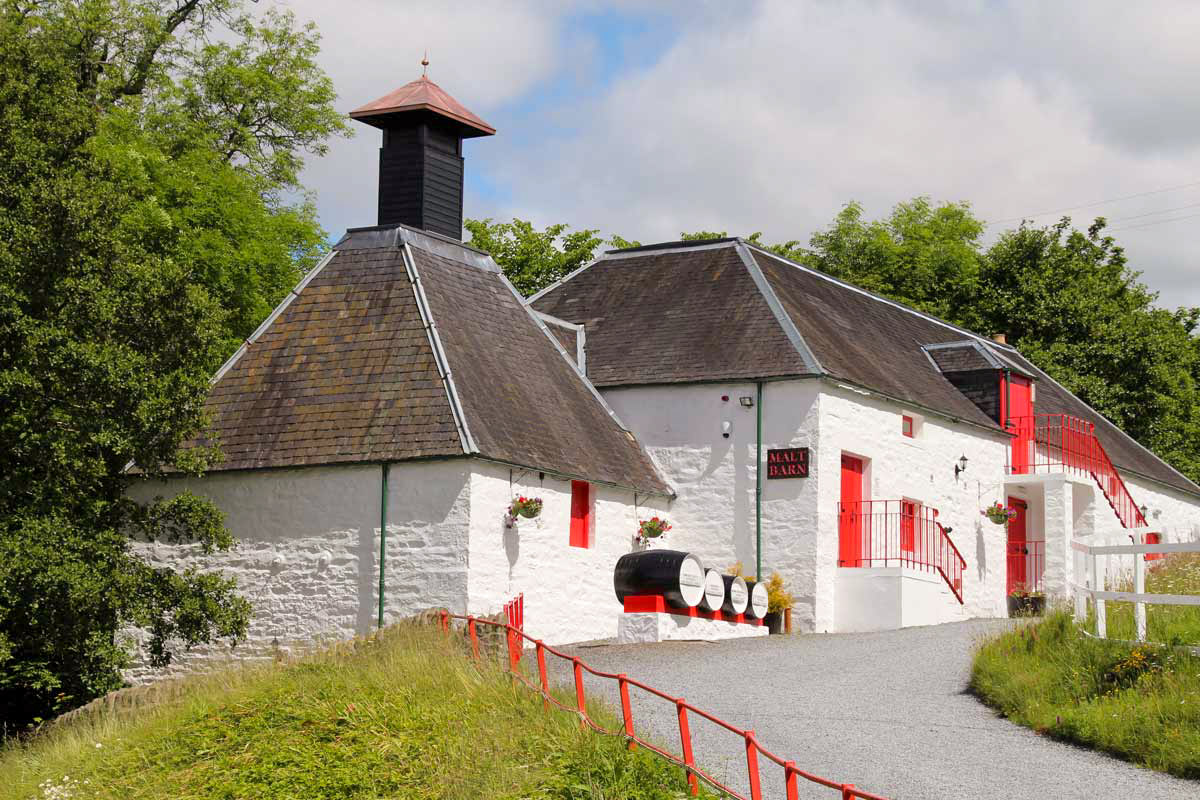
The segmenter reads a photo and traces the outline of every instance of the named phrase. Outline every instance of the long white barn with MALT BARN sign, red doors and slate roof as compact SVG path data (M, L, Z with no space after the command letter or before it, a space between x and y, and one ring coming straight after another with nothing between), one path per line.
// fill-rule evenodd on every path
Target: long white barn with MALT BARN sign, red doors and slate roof
M674 487L673 546L779 571L802 630L1003 616L1085 579L1073 537L1200 534L1200 487L1014 348L750 242L612 251L529 302Z

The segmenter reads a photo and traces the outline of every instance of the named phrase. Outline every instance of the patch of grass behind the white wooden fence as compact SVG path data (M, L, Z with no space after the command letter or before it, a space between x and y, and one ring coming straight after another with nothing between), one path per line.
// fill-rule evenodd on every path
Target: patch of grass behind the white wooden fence
M1200 553L1175 553L1146 569L1146 591L1158 595L1200 595ZM1133 581L1116 587L1117 591L1133 591ZM1108 636L1112 639L1135 639L1133 603L1105 603ZM1088 615L1088 628L1096 631L1094 613ZM1146 604L1146 638L1168 644L1200 644L1200 606Z

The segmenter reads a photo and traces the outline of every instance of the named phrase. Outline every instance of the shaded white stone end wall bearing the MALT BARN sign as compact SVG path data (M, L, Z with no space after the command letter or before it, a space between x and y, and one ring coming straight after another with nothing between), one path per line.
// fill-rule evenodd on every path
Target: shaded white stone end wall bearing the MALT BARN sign
M740 561L755 569L754 384L638 386L605 390L605 399L646 446L676 489L671 547L724 571ZM817 392L811 380L763 385L763 459L767 450L810 447L817 452ZM727 397L728 399L722 399ZM724 423L728 423L725 438ZM817 594L817 482L812 477L763 480L763 572L779 571L796 596L793 624L812 630Z

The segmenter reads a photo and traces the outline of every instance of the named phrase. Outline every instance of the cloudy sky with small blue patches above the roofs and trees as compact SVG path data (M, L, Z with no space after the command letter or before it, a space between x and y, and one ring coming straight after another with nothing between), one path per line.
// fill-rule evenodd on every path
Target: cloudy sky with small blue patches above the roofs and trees
M989 236L1105 216L1159 305L1200 305L1200 4L263 0L323 35L340 110L420 76L497 128L468 217L643 242L800 240L850 200L966 201ZM379 132L304 182L376 222Z

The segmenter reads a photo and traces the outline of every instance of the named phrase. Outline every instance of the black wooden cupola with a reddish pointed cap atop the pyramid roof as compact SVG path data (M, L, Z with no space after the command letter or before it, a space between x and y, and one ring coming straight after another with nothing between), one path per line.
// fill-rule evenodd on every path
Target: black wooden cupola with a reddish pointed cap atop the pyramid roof
M383 131L379 224L462 239L462 140L496 128L424 74L350 118Z

